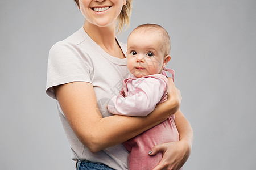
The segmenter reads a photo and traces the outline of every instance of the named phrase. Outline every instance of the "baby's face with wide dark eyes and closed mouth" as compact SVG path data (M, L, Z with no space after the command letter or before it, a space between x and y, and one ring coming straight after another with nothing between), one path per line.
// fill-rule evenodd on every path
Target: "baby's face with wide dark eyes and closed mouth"
M127 41L127 66L137 78L162 71L162 41L156 33L132 33Z

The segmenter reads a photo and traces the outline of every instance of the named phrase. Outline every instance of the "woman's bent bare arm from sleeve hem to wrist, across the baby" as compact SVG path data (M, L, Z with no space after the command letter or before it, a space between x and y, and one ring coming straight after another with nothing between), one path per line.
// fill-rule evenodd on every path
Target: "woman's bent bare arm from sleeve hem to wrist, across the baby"
M175 88L173 83L169 84L169 88ZM72 130L92 152L127 141L158 125L179 109L181 100L179 90L176 90L146 117L114 115L102 118L92 84L72 82L55 86L54 90Z

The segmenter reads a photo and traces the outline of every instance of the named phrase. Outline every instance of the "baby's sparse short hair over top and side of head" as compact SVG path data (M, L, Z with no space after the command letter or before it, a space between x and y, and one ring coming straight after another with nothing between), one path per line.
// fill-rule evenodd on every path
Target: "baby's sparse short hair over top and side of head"
M170 36L166 29L158 24L142 24L136 27L131 33L157 33L162 39L162 52L167 56L171 50ZM130 36L129 35L129 36Z

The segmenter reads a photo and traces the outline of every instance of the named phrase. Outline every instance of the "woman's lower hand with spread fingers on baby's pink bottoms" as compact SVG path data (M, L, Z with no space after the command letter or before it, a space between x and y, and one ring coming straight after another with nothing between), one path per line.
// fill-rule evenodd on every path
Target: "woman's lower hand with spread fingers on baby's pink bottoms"
M159 164L153 169L175 169L179 170L187 161L191 152L191 142L187 139L181 139L177 142L163 143L152 148L152 153L155 155L162 152L163 158Z

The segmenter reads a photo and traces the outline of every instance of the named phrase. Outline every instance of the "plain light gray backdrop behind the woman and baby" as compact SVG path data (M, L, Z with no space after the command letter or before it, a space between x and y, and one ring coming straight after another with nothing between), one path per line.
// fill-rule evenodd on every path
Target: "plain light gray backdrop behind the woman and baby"
M157 3L156 3L157 2ZM130 28L171 37L181 110L195 139L184 169L256 169L256 1L134 2ZM46 86L49 49L82 27L72 0L0 1L0 169L74 169Z

